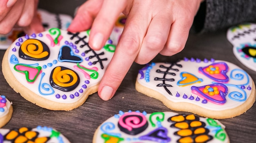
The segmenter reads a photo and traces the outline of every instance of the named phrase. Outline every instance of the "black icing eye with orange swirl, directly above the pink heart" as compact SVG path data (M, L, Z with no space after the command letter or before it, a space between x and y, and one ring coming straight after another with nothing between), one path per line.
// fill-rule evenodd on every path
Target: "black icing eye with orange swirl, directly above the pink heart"
M48 46L37 39L27 39L19 49L19 57L25 60L43 61L49 58Z

